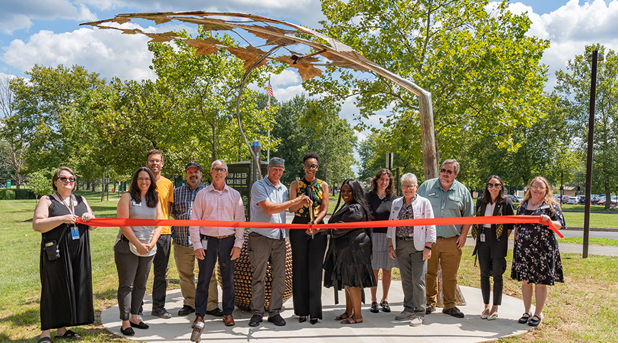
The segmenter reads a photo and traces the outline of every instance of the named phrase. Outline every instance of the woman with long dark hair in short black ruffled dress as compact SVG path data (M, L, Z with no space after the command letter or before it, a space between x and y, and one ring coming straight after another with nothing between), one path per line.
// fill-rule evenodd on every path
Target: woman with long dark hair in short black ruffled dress
M341 199L345 204L339 209ZM329 223L365 222L372 219L363 187L350 178L341 185L335 210ZM341 320L341 324L361 323L363 288L377 285L371 270L371 229L337 228L330 230L330 234L332 238L324 261L324 286L337 289L345 286L345 312L335 319Z

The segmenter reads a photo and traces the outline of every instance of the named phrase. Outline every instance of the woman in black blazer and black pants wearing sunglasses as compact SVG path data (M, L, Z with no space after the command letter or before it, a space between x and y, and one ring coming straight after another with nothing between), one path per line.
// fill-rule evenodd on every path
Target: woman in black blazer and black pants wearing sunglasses
M483 197L477 199L477 217L495 215L514 215L513 203L504 196L500 176L490 176ZM472 228L472 237L477 240L473 255L479 259L481 268L481 294L485 309L481 319L498 318L498 306L502 303L502 275L506 270L506 255L509 248L509 235L513 224L480 224ZM490 276L494 278L494 302L490 308Z

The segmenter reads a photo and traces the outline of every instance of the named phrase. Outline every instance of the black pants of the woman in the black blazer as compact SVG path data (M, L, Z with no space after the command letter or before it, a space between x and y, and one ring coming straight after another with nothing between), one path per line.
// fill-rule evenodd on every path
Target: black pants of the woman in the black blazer
M479 268L481 268L481 294L483 303L489 304L490 300L490 276L494 278L494 306L502 304L502 275L506 270L506 259L504 257L492 258L491 244L479 242L477 255L479 257Z

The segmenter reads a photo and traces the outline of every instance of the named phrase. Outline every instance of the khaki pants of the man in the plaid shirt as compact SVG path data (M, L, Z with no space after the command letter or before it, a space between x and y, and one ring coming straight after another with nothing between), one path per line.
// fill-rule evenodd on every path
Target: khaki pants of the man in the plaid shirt
M192 246L179 246L174 242L174 260L176 270L180 279L181 293L183 294L183 305L195 308L195 252ZM212 311L219 307L219 296L217 289L216 273L213 271L208 287L207 311Z

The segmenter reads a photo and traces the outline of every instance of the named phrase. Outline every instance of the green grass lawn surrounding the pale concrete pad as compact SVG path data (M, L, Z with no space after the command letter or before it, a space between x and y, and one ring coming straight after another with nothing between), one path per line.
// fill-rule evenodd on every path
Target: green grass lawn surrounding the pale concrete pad
M100 193L82 194L87 196L95 215L115 217L117 202L100 202ZM0 200L0 342L37 342L41 333L38 304L41 234L32 230L34 204L34 200ZM330 207L332 211L334 204ZM596 215L593 213L593 217ZM74 329L85 336L79 342L133 342L111 335L100 322L100 311L116 304L117 273L112 245L117 232L118 228L98 228L91 232L96 316L93 324ZM596 243L591 240L591 244ZM512 252L509 252L505 294L520 298L520 285L508 277L511 261ZM615 314L618 258L593 255L582 259L580 255L564 254L562 263L565 283L549 287L543 324L530 333L501 342L618 342ZM170 289L178 288L173 259L168 274ZM393 271L393 275L398 277L398 271ZM472 248L464 248L458 280L461 285L479 287L479 269L474 268ZM150 294L152 273L147 287L146 292ZM465 308L463 311L468 314Z

